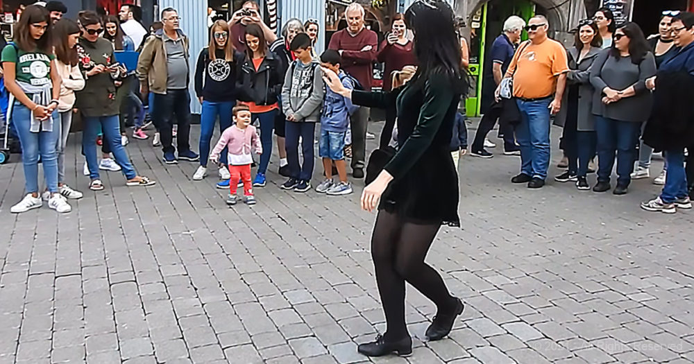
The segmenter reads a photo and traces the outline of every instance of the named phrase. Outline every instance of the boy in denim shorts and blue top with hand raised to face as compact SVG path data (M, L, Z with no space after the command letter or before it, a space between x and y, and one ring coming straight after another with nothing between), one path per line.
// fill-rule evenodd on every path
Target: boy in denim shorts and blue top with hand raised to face
M340 53L329 49L321 54L321 66L331 69L344 87L354 89L352 78L340 69ZM321 141L319 153L323 158L323 168L325 170L325 181L316 187L319 193L328 195L348 195L352 193L352 185L347 181L347 164L345 162L344 147L349 116L357 107L353 105L349 98L332 92L331 89L325 92L323 101L323 112L321 113ZM332 162L335 162L340 183L332 181Z

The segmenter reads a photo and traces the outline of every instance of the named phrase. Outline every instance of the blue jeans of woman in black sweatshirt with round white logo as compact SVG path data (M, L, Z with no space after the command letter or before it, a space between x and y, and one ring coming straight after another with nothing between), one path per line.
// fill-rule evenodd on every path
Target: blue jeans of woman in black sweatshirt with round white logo
M214 134L214 123L219 116L219 134L226 128L231 126L231 110L236 105L236 101L227 101L223 103L213 103L203 100L203 111L200 114L200 165L208 166L208 158L210 157L210 140ZM219 161L227 165L227 148L221 151Z

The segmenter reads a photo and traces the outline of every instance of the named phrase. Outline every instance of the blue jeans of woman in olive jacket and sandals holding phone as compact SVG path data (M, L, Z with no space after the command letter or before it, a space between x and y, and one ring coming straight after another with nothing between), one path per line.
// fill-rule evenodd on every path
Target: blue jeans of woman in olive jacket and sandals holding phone
M90 179L99 179L99 164L96 162L96 133L99 126L103 131L103 143L108 143L113 159L121 166L123 174L128 180L137 177L133 164L130 163L126 148L121 144L121 129L118 115L111 116L84 116L84 132L82 135L82 150L87 158Z

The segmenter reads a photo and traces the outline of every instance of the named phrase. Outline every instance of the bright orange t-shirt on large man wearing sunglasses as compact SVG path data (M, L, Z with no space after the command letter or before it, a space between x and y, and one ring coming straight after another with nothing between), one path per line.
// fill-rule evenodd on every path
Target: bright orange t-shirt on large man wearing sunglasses
M540 44L521 44L509 64L507 75L514 73L514 96L543 98L552 96L557 76L568 72L566 49L549 38Z

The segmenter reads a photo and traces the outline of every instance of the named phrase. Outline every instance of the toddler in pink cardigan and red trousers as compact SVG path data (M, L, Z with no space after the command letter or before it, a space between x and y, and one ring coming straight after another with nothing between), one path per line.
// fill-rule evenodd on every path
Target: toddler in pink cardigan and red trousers
M231 180L229 183L230 194L226 200L227 205L236 205L239 178L244 182L244 196L247 205L255 205L253 187L251 185L251 163L255 153L262 154L260 138L257 135L255 126L251 125L251 108L247 105L235 106L232 110L235 125L231 125L224 130L210 153L210 160L213 163L219 162L219 153L224 148L228 148L229 173Z

